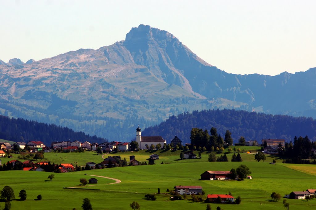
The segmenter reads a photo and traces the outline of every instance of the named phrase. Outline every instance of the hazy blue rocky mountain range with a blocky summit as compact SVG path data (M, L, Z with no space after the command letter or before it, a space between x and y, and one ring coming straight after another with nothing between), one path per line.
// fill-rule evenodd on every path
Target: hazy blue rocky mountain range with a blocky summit
M125 41L40 61L0 60L0 114L130 140L171 115L213 108L316 117L316 68L236 75L167 31L139 25Z

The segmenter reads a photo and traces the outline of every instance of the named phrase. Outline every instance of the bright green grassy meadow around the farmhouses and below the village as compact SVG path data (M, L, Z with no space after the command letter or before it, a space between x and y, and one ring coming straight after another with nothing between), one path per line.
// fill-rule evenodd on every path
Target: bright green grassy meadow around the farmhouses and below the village
M250 147L247 147L248 149ZM253 149L257 149L254 147ZM248 151L248 150L247 150ZM227 151L226 151L227 152ZM160 155L155 165L117 167L100 170L87 170L71 173L55 174L51 181L47 176L51 173L37 171L0 171L0 189L9 185L15 191L16 200L11 202L12 209L81 209L83 198L89 198L94 210L97 209L131 209L129 204L137 201L141 209L206 209L206 203L193 203L191 200L171 201L166 190L172 190L175 185L201 185L207 194L227 194L230 191L234 197L241 196L240 205L233 204L210 204L212 209L220 206L224 210L230 209L285 209L282 200L271 201L272 192L280 193L282 196L292 191L302 191L307 188L316 188L315 166L282 164L282 160L277 159L276 165L269 164L274 157L267 157L267 160L255 162L254 153L241 153L243 162L208 162L209 153L203 152L201 159L178 160L179 151L138 151L138 152L118 152L122 158L129 159L130 155L135 155L135 159L145 161L150 154ZM195 152L196 154L198 152ZM84 156L87 159L78 157ZM57 155L57 156L56 156ZM45 153L45 158L58 158L61 155L64 163L86 163L102 161L101 155L94 152L71 152L71 153ZM110 156L113 154L108 154ZM227 153L228 159L233 153ZM98 159L93 159L93 158ZM3 158L1 158L3 159ZM61 159L61 158L60 158ZM67 160L67 162L66 162ZM70 160L70 161L69 161ZM99 160L99 161L98 161ZM163 161L165 164L160 164ZM80 165L84 165L80 164ZM230 170L237 168L240 164L246 164L252 171L253 179L244 181L235 180L213 180L201 181L200 174L205 170ZM87 173L88 175L84 175ZM115 181L94 177L89 175L106 176L121 180L119 184L109 184ZM65 189L64 187L79 187L79 179L91 177L97 178L97 184L91 186ZM144 199L147 193L157 193L160 188L161 194L156 194L156 201ZM27 200L19 201L18 194L21 189L27 192ZM93 190L98 189L98 190ZM37 195L41 194L43 199L36 201ZM188 196L190 197L190 196ZM316 207L316 199L311 201L287 199L290 203L289 209L307 209ZM4 207L4 202L0 202L0 208Z

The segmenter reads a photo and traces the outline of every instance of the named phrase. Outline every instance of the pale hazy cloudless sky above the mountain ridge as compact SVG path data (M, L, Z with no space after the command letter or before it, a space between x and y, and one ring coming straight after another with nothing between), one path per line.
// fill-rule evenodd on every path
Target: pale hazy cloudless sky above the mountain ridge
M0 59L98 49L146 24L229 73L294 73L316 67L315 9L312 0L0 0Z

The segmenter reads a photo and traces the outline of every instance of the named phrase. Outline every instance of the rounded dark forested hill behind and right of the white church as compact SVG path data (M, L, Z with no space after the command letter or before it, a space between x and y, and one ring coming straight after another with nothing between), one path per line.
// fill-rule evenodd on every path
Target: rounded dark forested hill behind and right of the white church
M203 110L186 112L178 116L171 116L157 126L148 127L143 136L162 136L167 143L179 137L184 143L190 143L192 128L210 129L215 127L217 133L224 137L226 130L232 133L234 143L240 136L246 141L261 139L285 139L290 141L295 136L308 136L312 141L316 140L316 121L313 118L292 117L287 115L272 115L247 111Z

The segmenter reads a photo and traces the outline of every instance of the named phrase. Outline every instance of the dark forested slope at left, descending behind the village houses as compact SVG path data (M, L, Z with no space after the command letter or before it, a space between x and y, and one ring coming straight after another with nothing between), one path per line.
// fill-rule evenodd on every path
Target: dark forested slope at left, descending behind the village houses
M22 118L9 118L0 115L0 139L11 141L42 141L50 145L52 141L88 141L90 143L102 143L107 141L97 136L86 135L83 132L75 132L70 128L54 124L39 123L24 120Z

